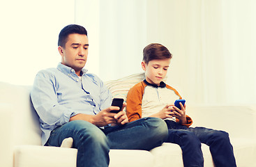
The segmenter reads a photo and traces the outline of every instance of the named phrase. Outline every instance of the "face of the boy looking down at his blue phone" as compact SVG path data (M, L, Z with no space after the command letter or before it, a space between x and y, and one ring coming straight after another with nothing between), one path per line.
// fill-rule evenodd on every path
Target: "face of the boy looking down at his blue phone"
M153 60L146 64L142 61L142 69L145 71L146 81L150 84L156 84L159 86L167 74L168 67L170 65L171 58L163 60Z

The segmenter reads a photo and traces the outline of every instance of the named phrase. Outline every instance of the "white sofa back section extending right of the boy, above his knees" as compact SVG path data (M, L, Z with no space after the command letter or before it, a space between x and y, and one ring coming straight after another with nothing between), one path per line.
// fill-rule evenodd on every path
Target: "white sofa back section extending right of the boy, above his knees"
M255 105L188 106L186 112L193 119L192 127L224 130L234 138L256 138Z

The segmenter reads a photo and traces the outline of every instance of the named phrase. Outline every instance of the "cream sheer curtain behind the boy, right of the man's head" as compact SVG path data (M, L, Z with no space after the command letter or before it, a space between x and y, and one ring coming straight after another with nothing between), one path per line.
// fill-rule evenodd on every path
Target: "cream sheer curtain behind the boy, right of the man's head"
M173 54L167 84L188 104L256 103L256 1L98 0L94 7L84 11L98 20L93 63L103 80L142 72L142 49L159 42Z

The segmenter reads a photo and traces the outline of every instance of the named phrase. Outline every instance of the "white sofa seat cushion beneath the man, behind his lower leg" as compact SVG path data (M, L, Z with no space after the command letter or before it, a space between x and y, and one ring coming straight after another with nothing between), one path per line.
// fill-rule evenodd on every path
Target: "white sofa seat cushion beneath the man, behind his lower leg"
M63 158L65 157L65 158ZM40 145L17 145L14 167L75 167L77 149ZM153 155L144 150L110 150L110 167L153 167Z

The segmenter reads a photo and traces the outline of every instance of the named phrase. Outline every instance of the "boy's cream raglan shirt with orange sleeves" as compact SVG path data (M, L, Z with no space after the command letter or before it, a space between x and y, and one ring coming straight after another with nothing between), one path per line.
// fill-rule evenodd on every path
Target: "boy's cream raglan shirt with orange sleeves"
M126 114L129 122L146 117L147 114L151 115L153 112L157 113L166 104L170 104L176 99L181 99L181 95L174 88L163 82L162 84L163 86L158 88L157 86L149 85L144 80L130 88L126 100ZM189 116L186 116L186 118L186 126L189 127L192 125L193 120ZM179 119L176 118L174 121L179 122Z

